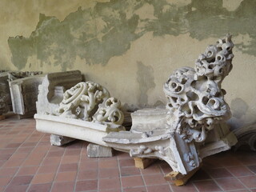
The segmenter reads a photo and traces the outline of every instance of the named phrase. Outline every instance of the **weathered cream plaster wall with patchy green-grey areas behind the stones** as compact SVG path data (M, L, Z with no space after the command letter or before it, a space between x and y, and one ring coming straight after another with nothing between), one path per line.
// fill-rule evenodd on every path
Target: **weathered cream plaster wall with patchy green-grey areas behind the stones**
M254 0L20 0L0 2L0 65L81 70L122 102L165 102L173 70L234 35L234 70L223 82L233 127L256 117Z

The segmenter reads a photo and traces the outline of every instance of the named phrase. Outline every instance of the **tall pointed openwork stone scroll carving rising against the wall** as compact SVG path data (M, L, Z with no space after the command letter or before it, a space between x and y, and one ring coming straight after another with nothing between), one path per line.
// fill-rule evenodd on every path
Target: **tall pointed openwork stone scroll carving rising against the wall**
M233 47L231 35L227 34L199 55L194 69L175 70L164 84L167 124L186 142L204 142L214 124L230 118L221 84L232 70Z

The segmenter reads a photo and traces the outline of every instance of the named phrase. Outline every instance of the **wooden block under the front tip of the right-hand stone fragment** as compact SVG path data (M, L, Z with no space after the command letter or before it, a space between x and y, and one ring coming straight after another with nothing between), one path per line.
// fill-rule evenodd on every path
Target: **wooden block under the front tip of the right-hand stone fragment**
M176 186L183 186L186 182L199 170L200 167L190 171L188 174L181 174L179 172L171 171L169 174L166 174L166 181L172 181Z

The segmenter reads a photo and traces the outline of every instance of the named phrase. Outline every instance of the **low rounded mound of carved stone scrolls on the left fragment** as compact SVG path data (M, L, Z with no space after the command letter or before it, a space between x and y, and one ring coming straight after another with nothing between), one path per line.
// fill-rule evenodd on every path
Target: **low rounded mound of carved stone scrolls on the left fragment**
M79 82L66 90L58 114L65 118L120 126L124 120L120 108L121 102L117 98L110 98L105 87L96 82Z

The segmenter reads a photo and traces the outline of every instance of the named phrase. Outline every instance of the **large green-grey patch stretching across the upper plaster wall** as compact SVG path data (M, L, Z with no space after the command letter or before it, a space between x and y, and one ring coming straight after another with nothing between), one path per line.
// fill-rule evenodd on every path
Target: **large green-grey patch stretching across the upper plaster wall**
M139 9L154 7L154 18L141 17ZM256 1L244 0L238 9L228 11L222 0L192 0L176 6L166 0L112 0L97 2L94 8L79 8L60 22L40 14L38 26L30 37L9 38L12 62L18 69L26 66L30 56L45 64L72 68L76 57L86 64L102 64L125 54L130 43L143 34L154 36L189 33L191 38L219 38L230 32L248 34L249 43L236 45L243 53L256 56Z

